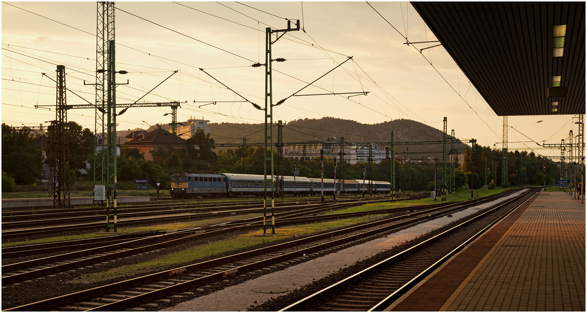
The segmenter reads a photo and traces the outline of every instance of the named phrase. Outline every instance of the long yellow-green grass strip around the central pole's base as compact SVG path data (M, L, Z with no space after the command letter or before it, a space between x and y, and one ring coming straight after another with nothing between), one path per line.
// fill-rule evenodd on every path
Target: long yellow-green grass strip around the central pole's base
M317 222L311 224L284 226L275 229L276 236L258 237L257 234L262 234L263 229L242 234L232 239L220 240L204 244L201 246L185 249L183 251L170 254L167 256L157 257L154 260L145 261L143 263L133 264L131 266L123 266L107 271L106 273L92 273L80 277L84 281L108 280L112 278L126 277L151 271L156 268L164 266L173 266L174 264L181 264L185 262L197 263L198 259L221 254L224 252L255 246L256 244L268 243L271 241L290 239L296 236L305 236L321 230L335 229L338 227L349 226L352 224L369 222L370 220L379 219L384 215L370 215L362 217L353 217L350 219L340 219L330 222ZM271 232L271 230L269 230Z

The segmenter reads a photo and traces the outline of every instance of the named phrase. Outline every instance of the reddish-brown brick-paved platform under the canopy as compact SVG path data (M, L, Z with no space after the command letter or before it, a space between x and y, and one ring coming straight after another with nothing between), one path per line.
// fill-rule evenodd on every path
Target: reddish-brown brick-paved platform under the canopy
M386 311L585 311L585 203L537 193Z

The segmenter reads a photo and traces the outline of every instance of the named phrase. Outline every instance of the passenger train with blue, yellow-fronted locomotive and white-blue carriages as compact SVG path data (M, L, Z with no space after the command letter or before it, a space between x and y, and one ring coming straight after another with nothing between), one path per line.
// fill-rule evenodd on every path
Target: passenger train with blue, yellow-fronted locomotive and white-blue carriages
M235 198L238 196L262 196L264 194L264 175L251 174L200 174L177 173L171 175L171 197L177 199L201 198ZM362 179L328 179L322 182L321 178L307 178L303 176L283 176L282 181L274 176L272 186L276 193L281 191L283 185L284 194L310 196L340 194L369 193L369 185L372 193L389 193L391 184L383 181L365 181Z

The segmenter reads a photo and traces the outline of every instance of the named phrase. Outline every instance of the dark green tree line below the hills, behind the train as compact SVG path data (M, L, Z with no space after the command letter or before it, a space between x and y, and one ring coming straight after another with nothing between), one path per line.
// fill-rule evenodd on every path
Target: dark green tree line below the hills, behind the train
M2 190L6 186L30 185L39 181L42 177L43 162L52 162L53 145L50 138L55 135L52 127L49 127L46 138L46 158L35 147L29 131L12 131L2 124ZM65 128L68 132L69 166L72 169L70 177L72 183L76 178L85 177L93 179L93 153L94 140L92 132L88 128L82 128L75 122L69 122ZM150 153L152 160L146 160L144 152L136 148L122 148L117 161L117 179L120 181L133 181L136 178L149 178L151 184L156 186L157 177L161 183L161 189L170 186L170 176L180 171L203 173L248 173L264 174L264 147L237 147L215 152L215 142L203 130L197 130L192 138L187 140L187 148L158 148ZM123 145L124 146L124 145ZM294 165L299 170L299 176L320 178L322 169L319 157L307 160L296 160L284 157L282 168L278 168L277 152L274 154L274 175L293 176ZM479 189L488 185L492 179L495 185L502 185L502 152L492 151L490 147L482 147L474 144L473 149L465 147L463 164L455 169L455 181L457 189L471 188L471 176L473 176L473 188ZM448 159L448 158L447 158ZM90 167L86 168L85 161L89 160ZM371 167L365 162L349 164L345 160L338 160L336 178L338 179L363 179L363 166L366 167L366 179L373 181L390 181L390 159L383 159L379 164ZM434 190L440 189L442 179L441 159L436 162L430 159L395 162L396 190ZM542 174L542 164L546 164L546 175ZM494 166L495 164L495 166ZM536 155L534 152L510 151L508 152L508 183L510 185L542 185L551 184L559 178L559 164ZM86 169L82 174L81 169ZM449 182L450 165L447 165L447 186ZM268 171L270 175L271 172ZM333 159L326 157L324 161L324 178L334 178Z

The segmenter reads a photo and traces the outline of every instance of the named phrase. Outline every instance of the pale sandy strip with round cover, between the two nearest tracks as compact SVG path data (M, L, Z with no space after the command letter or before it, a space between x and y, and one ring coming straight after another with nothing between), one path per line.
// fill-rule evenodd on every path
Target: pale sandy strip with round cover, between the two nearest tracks
M325 256L291 266L285 270L267 274L161 311L246 311L253 305L258 305L261 302L271 300L272 297L276 298L279 295L286 294L286 292L280 294L264 294L252 291L253 288L263 286L283 287L288 290L300 288L304 285L311 284L313 280L319 280L356 261L364 260L380 251L391 249L406 240L411 240L433 229L453 222L456 219L471 215L478 209L484 209L485 207L503 202L506 199L514 198L522 192L525 192L525 190L501 198L500 200L453 213L453 217L439 217L429 222L410 227L409 229L389 234L388 237L377 238L336 253L326 254Z

